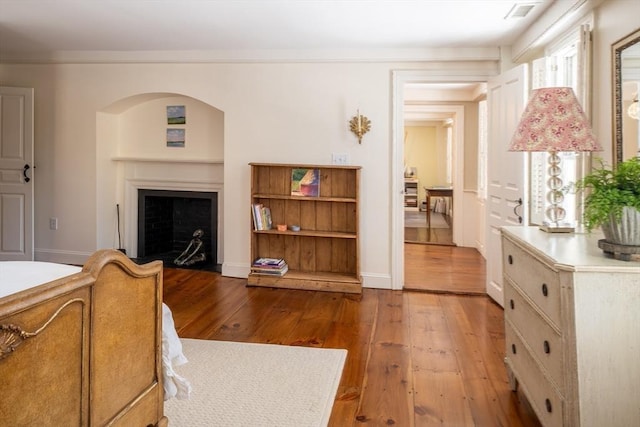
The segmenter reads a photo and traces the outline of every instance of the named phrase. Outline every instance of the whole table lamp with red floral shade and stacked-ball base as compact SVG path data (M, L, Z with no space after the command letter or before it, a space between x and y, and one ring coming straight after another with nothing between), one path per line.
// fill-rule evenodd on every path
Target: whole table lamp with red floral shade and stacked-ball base
M574 227L562 225L566 211L560 175L559 151L602 151L587 116L570 87L535 89L522 113L509 151L549 153L547 180L547 221L540 227L550 233L571 233Z

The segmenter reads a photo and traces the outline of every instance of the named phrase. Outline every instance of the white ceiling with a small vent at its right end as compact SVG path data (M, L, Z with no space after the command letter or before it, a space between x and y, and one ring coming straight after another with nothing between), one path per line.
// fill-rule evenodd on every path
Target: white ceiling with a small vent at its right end
M510 45L552 0L0 0L0 59ZM505 19L514 6L535 7ZM247 54L248 55L248 54Z

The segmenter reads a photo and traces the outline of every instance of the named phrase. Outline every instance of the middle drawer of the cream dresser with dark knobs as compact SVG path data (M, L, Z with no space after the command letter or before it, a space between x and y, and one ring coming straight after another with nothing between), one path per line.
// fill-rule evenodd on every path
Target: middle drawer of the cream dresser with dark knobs
M542 364L560 392L564 392L561 336L527 303L508 280L504 283L504 314Z

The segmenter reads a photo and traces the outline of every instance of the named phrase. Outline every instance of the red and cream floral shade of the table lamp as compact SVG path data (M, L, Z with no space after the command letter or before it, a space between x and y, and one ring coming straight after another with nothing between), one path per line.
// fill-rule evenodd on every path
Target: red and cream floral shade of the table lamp
M532 92L509 151L602 151L570 87Z

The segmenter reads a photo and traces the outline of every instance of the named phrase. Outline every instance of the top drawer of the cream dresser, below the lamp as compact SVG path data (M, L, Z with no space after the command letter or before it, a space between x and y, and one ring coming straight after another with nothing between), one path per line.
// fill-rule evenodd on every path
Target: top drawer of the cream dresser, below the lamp
M560 277L557 272L531 255L502 239L502 265L508 276L522 292L560 328Z

